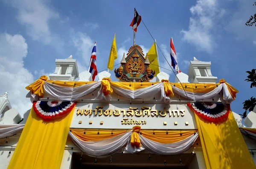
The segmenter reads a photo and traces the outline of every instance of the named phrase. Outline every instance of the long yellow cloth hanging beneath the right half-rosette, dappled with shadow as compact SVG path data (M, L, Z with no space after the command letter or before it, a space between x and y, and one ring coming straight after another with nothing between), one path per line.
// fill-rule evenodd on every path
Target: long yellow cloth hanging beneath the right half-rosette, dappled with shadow
M256 168L231 111L220 124L195 118L207 169Z

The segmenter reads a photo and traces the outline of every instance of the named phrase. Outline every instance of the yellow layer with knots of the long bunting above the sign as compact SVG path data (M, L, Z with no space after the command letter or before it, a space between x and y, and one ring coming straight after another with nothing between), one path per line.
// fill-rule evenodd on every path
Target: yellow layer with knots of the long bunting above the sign
M47 80L47 76L41 76L39 80L36 80L31 85L27 86L26 89L30 90L32 93L38 95L39 97L44 96L44 81L49 83L53 83L58 86L64 87L78 87L81 85L86 85L88 83L96 83L95 81L83 82L83 81L60 81L60 80ZM130 89L130 90L137 90L142 89L145 87L152 86L154 84L160 82L113 82L110 78L103 78L102 85L104 87L103 92L104 95L110 95L113 93L111 86L120 87L123 89ZM166 95L173 97L174 93L172 91L172 86L175 86L180 89L184 89L187 92L194 92L194 93L201 93L201 92L210 92L215 89L221 83L225 83L227 85L227 89L229 90L233 99L236 98L236 93L238 90L227 83L224 79L221 79L219 83L211 83L211 84L204 84L204 83L172 83L168 80L163 80L164 88ZM172 86L171 86L172 85Z

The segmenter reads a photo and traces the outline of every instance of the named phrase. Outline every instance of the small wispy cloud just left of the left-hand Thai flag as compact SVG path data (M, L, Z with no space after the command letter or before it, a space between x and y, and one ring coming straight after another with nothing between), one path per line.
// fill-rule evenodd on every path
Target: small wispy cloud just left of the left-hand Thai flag
M88 67L90 64L90 56L94 46L94 41L91 40L87 34L81 32L73 36L72 41L78 51L78 55L81 55L83 58L84 66ZM96 52L98 52L98 49Z

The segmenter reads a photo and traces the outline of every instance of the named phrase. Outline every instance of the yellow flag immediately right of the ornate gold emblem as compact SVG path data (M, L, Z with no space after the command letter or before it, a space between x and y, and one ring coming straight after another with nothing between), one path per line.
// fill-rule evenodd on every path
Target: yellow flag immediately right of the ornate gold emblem
M160 73L159 64L157 60L157 46L154 42L151 48L148 51L148 60L150 62L149 67L155 71L154 76L156 76L158 73Z

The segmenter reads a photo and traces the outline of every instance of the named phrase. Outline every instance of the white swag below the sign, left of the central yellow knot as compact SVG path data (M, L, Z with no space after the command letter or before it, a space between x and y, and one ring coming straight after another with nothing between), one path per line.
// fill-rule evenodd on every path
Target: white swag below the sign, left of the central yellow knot
M77 138L73 133L69 131L69 135L76 146L81 149L82 152L90 156L108 156L121 149L128 143L129 137L131 137L131 131L125 132L122 135L112 137L99 141L83 141Z

